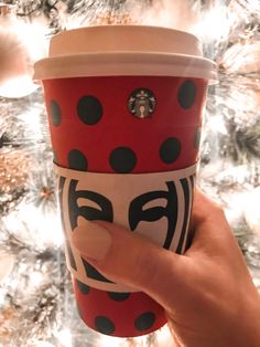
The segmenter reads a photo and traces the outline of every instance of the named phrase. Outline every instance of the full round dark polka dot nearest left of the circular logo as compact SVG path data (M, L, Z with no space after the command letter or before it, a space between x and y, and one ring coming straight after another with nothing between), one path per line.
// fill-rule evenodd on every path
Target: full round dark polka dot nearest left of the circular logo
M95 96L83 96L77 103L77 114L84 124L95 125L102 116L102 105Z

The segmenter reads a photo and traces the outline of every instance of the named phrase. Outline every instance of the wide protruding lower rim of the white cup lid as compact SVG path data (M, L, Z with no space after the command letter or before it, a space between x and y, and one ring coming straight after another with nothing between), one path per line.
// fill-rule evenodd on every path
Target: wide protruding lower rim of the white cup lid
M203 56L165 52L90 52L45 57L34 64L40 80L94 76L176 76L217 82L216 64Z

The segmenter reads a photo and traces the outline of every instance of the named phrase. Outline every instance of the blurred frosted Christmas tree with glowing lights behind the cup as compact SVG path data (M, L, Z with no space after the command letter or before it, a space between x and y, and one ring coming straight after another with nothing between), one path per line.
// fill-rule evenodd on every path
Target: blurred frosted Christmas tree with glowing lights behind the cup
M88 329L75 309L58 220L53 153L33 64L52 35L96 24L186 30L218 66L208 88L198 186L220 203L260 288L260 2L20 0L0 2L0 346L171 346ZM151 38L152 40L152 38Z

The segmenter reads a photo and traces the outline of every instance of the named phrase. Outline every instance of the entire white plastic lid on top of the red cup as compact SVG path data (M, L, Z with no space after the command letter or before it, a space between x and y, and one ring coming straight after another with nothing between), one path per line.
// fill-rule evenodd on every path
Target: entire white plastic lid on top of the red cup
M34 65L34 80L153 75L217 80L193 34L144 25L100 25L54 35L48 57Z

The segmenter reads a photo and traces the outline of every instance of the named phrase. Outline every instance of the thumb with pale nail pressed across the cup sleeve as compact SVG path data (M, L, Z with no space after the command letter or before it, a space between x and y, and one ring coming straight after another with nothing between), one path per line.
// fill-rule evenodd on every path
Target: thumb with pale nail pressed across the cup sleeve
M174 304L172 287L180 288L185 256L104 221L76 228L72 241L83 257L112 281L145 292L164 307Z

